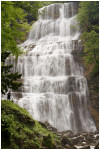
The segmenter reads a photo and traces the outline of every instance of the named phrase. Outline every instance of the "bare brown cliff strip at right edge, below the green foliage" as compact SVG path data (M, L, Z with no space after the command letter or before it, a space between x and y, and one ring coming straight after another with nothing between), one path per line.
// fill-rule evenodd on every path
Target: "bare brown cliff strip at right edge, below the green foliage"
M90 96L90 112L99 130L99 74L90 77L92 66L85 68L84 75L87 78Z

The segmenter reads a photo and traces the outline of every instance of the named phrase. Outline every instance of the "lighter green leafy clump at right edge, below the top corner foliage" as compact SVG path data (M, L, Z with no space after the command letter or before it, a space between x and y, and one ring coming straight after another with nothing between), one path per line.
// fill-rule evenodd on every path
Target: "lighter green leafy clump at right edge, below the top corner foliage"
M99 34L95 30L90 32L84 32L82 34L83 46L84 46L84 60L86 65L93 63L99 63Z

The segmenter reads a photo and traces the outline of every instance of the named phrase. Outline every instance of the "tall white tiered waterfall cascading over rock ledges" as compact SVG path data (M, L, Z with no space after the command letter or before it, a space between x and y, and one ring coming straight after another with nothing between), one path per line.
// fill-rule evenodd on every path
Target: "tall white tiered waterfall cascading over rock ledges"
M75 2L39 9L39 20L21 45L26 55L17 64L8 61L14 64L13 71L23 74L22 98L15 102L36 120L48 121L58 131L94 132L87 81L72 55L79 49L80 33L73 27L76 13Z

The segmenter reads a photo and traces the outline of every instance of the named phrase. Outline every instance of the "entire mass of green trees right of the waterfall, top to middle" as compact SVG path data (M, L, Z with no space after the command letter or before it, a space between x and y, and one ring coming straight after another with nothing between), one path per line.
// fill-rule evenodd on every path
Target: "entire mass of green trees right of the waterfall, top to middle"
M81 1L77 19L82 29L84 63L94 64L91 75L99 72L99 2Z

